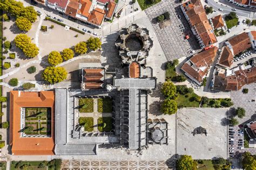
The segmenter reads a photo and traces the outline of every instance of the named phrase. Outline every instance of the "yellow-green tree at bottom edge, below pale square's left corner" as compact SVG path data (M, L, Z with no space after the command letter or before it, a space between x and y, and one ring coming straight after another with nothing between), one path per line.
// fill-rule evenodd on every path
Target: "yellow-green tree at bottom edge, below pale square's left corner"
M197 161L194 161L190 155L181 155L181 157L177 160L176 168L178 170L197 169Z

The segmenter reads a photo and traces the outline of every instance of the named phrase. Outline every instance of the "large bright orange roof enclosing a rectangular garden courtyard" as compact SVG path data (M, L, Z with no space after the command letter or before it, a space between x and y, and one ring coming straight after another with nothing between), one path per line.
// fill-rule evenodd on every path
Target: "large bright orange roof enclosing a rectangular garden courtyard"
M51 137L21 137L21 108L50 107ZM54 111L55 93L53 91L21 92L10 91L10 145L14 155L54 155Z

